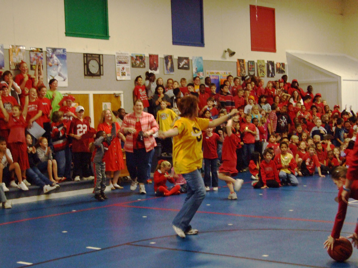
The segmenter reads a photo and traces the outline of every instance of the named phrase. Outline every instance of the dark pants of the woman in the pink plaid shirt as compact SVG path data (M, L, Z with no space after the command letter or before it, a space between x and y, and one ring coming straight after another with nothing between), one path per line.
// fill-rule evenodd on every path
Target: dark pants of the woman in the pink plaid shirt
M134 149L133 153L126 152L127 169L132 180L138 178L139 183L146 183L153 155L154 149L149 152L146 152L145 148Z

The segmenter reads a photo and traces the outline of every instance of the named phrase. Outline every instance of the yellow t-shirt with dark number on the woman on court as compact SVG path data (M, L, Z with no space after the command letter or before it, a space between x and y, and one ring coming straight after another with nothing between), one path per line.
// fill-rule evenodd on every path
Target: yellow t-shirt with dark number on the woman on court
M175 121L179 135L173 138L173 166L175 173L185 174L202 167L203 134L207 129L209 119L195 118L190 120L182 117Z

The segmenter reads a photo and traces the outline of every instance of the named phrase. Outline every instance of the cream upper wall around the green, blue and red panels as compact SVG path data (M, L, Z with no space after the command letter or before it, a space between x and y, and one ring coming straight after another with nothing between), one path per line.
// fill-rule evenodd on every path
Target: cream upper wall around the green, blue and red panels
M172 45L169 0L108 0L110 40L66 37L62 0L0 2L5 48L10 44L50 46L102 54L121 50L208 60L223 60L223 50L231 48L236 55L227 60L280 62L286 61L287 49L337 53L344 48L340 0L257 0L257 5L276 9L277 53L251 51L249 5L255 5L254 0L204 0L204 48Z

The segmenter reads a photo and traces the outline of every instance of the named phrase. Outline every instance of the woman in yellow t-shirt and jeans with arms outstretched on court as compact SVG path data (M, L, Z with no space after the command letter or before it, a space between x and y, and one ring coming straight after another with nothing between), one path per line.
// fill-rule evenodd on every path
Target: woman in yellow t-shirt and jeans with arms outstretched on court
M213 121L198 118L198 98L187 95L178 103L181 118L176 120L172 129L159 133L159 138L173 138L173 166L177 174L182 174L187 181L187 198L182 209L173 220L173 229L176 234L184 238L185 234L197 234L198 230L190 226L190 221L197 212L205 198L205 185L198 169L202 167L203 152L202 130L214 128L223 124L237 114L233 109L227 116L222 116Z

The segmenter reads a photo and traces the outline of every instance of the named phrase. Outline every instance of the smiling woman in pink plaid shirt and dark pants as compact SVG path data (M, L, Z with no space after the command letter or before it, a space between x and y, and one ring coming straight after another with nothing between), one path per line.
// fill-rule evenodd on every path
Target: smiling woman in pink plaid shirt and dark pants
M156 147L153 134L159 130L154 116L144 112L143 109L142 101L137 99L133 106L134 113L124 117L121 127L121 132L127 135L124 150L127 169L133 180L131 190L134 191L139 183L140 194L146 194L144 183L150 177L151 162Z

